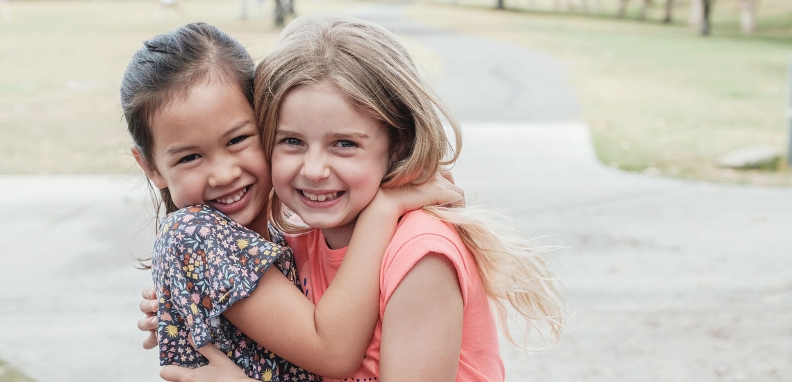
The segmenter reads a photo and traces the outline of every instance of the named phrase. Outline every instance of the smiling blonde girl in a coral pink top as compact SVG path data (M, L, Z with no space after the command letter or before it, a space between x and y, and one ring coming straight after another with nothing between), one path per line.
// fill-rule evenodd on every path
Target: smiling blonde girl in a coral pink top
M292 21L257 67L255 94L276 192L272 219L291 234L301 284L319 302L376 189L421 185L453 163L459 124L397 38L352 17ZM402 217L378 273L375 334L348 380L504 380L491 306L512 342L510 312L558 338L554 278L495 217L444 207ZM213 379L233 370L224 365L215 364Z

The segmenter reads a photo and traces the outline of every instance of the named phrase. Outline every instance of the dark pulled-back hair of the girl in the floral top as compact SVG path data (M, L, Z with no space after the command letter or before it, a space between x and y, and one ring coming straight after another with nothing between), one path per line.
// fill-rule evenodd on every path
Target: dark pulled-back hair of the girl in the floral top
M242 44L202 22L143 42L143 48L135 52L124 71L120 95L129 135L145 162L153 162L151 121L160 110L186 97L193 86L208 81L238 88L252 105L253 69L253 59ZM167 215L178 209L168 189L161 189L157 197L154 186L150 182L148 185L157 220L161 212Z

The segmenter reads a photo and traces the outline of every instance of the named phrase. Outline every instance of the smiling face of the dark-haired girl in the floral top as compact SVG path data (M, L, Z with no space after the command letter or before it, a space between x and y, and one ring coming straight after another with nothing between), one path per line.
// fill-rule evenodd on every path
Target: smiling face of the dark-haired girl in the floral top
M216 80L195 86L155 114L151 130L152 163L141 166L178 208L208 204L245 226L266 219L269 166L240 90Z

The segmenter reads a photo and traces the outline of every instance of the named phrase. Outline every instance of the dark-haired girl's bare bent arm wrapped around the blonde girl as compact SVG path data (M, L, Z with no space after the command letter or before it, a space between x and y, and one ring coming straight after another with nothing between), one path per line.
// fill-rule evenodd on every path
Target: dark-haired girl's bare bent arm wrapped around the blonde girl
M440 176L421 187L380 190L360 213L344 262L315 307L283 275L268 271L251 296L223 315L295 365L332 378L351 375L360 368L379 319L379 269L398 218L424 205L458 200L460 193ZM262 314L261 307L280 311Z

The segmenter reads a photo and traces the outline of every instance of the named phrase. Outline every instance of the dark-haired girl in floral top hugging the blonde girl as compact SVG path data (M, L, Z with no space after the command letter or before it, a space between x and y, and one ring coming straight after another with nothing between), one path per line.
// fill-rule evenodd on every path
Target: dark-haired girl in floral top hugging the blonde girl
M396 221L405 205L416 208L432 197L376 192L360 215L367 229L356 231L354 254L327 300L314 307L300 289L291 251L268 229L272 181L246 49L204 23L143 45L124 73L121 104L132 154L168 213L151 259L157 301L150 310L158 317L146 320L158 334L161 364L169 365L162 377L180 372L178 366L206 365L200 353L219 352L215 346L242 368L240 375L257 380L348 376L375 327L375 271ZM441 202L459 197L444 187L432 192Z

